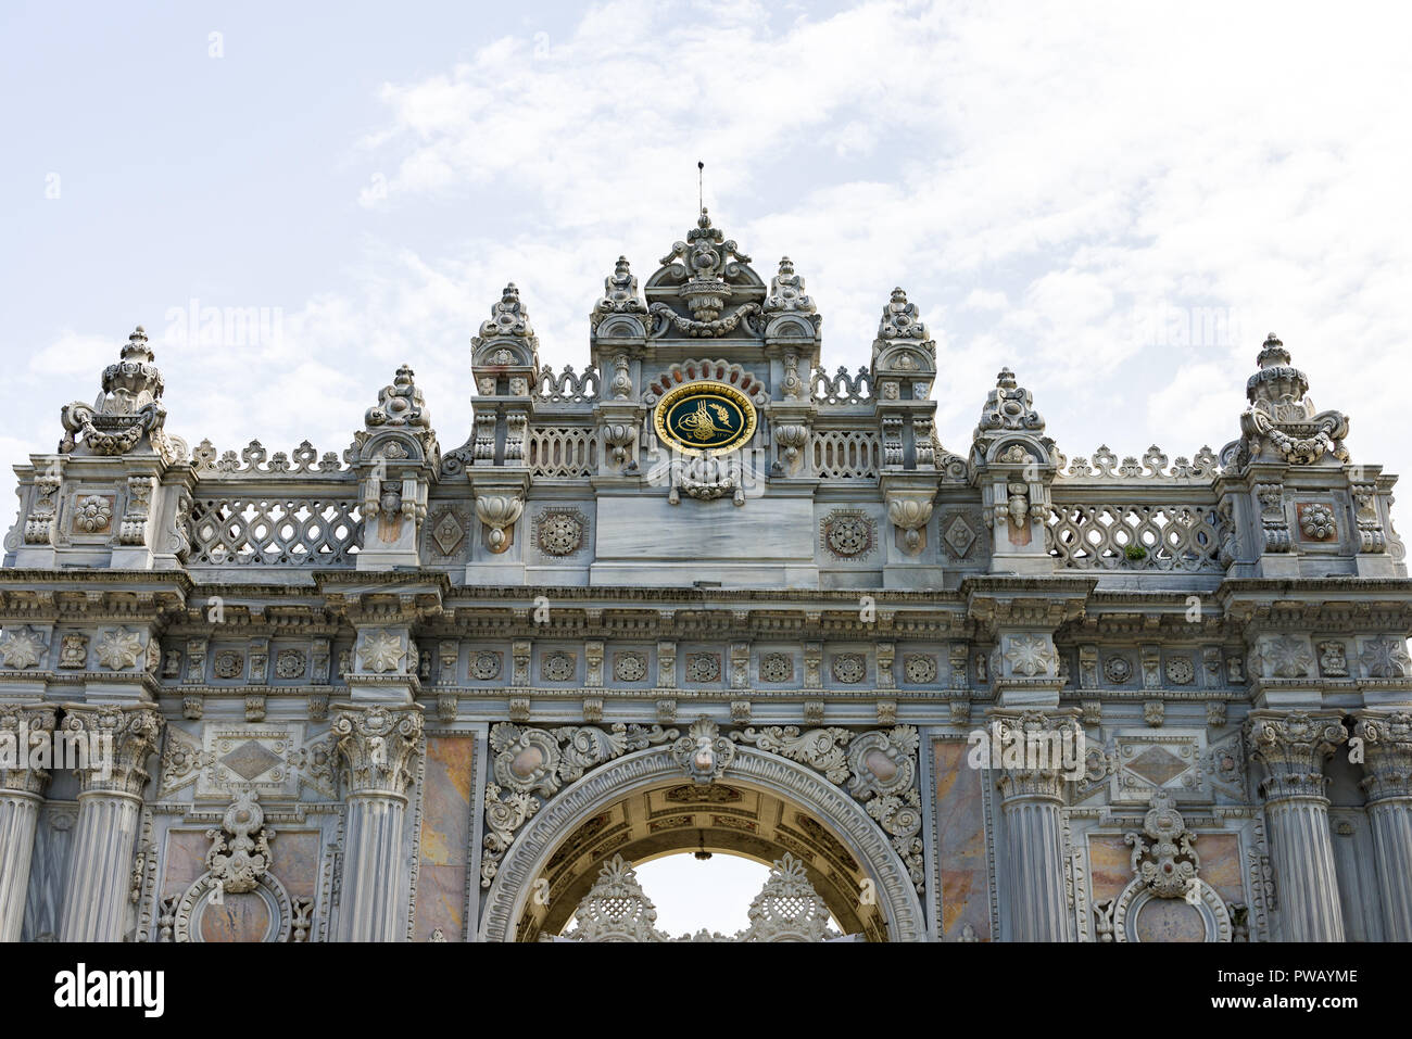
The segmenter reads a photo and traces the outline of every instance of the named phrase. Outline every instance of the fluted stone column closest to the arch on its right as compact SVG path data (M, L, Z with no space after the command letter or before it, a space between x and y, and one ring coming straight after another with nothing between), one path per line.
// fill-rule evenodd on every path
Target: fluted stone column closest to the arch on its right
M1076 728L1069 719L1041 711L991 719L991 752L997 752L994 744L998 741L998 761L1004 767L998 786L1005 816L1005 882L1014 942L1069 940L1060 817L1062 744L1065 740L1072 744ZM1022 757L1014 757L1017 754Z

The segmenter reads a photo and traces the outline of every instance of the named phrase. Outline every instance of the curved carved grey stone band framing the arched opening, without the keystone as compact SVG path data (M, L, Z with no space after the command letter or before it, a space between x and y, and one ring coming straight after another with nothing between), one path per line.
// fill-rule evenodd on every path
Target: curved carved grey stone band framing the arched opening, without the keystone
M627 796L672 781L689 782L669 747L652 747L604 764L558 793L525 824L500 863L486 895L480 939L514 940L535 881L580 824ZM813 769L741 744L720 782L760 788L818 816L873 881L890 939L925 940L925 918L912 879L863 805Z

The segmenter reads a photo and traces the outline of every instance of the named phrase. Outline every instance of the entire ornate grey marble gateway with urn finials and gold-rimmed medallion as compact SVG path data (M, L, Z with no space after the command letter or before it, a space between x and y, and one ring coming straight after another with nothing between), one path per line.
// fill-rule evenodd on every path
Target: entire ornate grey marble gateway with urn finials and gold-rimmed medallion
M0 939L659 942L631 864L716 850L710 940L1412 940L1395 477L1284 343L1220 450L1067 455L1004 359L949 450L907 292L830 373L751 264L620 258L579 371L505 285L459 446L411 366L192 446L133 332L17 467Z

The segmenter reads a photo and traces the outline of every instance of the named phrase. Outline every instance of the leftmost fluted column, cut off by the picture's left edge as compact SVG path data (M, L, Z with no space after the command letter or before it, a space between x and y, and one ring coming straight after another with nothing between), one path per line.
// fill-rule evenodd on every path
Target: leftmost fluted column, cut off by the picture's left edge
M16 755L16 768L0 767L0 942L18 942L24 923L34 831L49 778L42 768L28 767L28 750L35 734L47 740L52 731L52 707L0 707L0 738L13 741ZM8 747L4 752L10 752Z

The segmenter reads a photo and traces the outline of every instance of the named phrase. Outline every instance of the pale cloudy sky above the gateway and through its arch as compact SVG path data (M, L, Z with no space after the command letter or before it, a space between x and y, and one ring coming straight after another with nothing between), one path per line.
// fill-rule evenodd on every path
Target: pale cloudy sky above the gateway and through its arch
M1219 450L1274 330L1317 405L1351 415L1353 460L1396 472L1408 18L8 1L0 464L54 450L61 407L95 398L134 325L192 446L343 450L401 363L457 446L501 287L520 285L542 361L582 367L613 261L645 278L683 237L703 161L716 224L762 275L788 254L806 278L830 371L867 363L907 289L950 450L1003 366L1070 457ZM700 865L650 867L664 908L699 884L672 871ZM722 912L758 885L737 878Z

